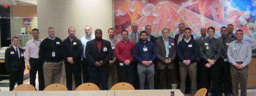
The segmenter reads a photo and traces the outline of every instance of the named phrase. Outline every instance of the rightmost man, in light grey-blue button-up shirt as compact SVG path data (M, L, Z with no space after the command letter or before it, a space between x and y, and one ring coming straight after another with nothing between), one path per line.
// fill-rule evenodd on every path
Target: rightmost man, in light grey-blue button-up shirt
M241 96L247 96L248 64L251 61L252 49L250 43L242 38L242 30L236 31L236 40L232 41L227 49L227 58L230 64L230 76L232 81L233 96L238 96L238 85L240 83Z

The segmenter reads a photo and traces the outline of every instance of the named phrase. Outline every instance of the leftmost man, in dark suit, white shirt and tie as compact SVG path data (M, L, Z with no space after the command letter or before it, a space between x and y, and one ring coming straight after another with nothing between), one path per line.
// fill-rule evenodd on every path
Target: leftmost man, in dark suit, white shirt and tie
M12 38L12 46L7 48L5 51L5 66L7 72L9 72L9 87L10 91L14 89L15 82L17 81L18 85L23 84L23 74L25 70L25 61L24 61L24 49L18 47L19 38Z

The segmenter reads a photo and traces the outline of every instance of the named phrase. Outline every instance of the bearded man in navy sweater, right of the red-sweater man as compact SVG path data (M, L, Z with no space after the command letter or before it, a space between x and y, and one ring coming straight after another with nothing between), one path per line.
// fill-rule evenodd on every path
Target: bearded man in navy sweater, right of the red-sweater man
M153 42L148 41L148 34L140 32L140 39L134 45L133 55L138 61L137 70L140 80L140 89L145 89L145 77L147 76L148 88L154 89L154 60L157 57L157 50Z

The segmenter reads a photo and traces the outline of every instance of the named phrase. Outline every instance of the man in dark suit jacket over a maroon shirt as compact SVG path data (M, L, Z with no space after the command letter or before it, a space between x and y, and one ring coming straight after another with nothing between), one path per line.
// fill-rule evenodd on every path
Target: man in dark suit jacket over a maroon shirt
M89 82L102 85L108 90L109 60L112 56L111 43L102 39L102 30L95 30L95 39L88 41L85 48L88 58Z

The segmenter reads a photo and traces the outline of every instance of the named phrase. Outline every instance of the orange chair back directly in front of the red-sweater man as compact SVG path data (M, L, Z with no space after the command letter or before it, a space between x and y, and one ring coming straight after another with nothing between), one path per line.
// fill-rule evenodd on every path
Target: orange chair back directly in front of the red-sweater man
M113 85L110 90L135 90L135 89L129 83L120 82L120 83Z

